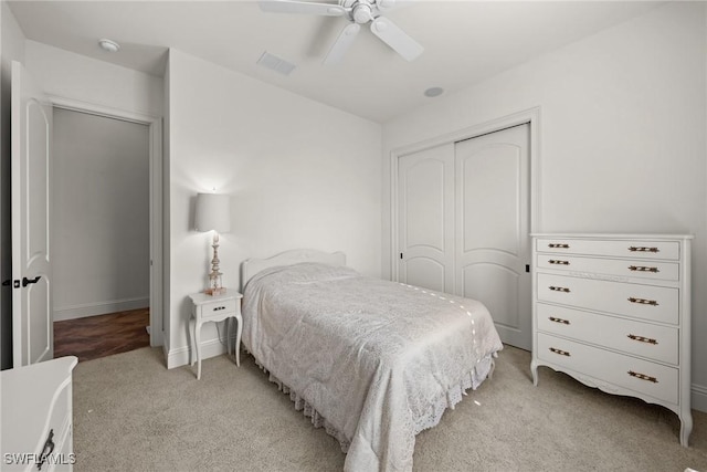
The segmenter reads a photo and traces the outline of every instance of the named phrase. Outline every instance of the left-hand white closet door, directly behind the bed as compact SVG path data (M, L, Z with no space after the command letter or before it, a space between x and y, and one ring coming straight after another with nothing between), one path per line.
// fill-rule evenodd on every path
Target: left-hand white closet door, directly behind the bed
M398 280L454 290L454 144L398 160Z

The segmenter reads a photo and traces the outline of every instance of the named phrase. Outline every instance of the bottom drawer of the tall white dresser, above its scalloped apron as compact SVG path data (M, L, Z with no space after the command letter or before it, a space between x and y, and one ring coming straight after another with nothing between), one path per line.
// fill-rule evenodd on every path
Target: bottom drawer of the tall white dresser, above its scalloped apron
M582 343L538 333L538 358L671 403L678 402L679 370ZM619 391L616 391L620 394Z

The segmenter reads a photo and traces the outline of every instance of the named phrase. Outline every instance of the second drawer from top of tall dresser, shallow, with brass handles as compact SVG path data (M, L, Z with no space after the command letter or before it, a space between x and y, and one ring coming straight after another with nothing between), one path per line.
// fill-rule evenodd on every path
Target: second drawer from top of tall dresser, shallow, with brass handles
M539 269L567 271L572 275L605 274L618 279L627 277L678 281L677 262L635 261L626 259L595 259L576 255L538 254L536 265Z

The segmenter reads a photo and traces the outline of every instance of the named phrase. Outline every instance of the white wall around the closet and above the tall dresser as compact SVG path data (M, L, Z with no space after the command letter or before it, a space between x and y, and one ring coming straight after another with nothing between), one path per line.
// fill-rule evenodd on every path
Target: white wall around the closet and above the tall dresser
M536 231L695 234L693 397L707 410L706 14L672 2L383 126L395 148L540 107Z

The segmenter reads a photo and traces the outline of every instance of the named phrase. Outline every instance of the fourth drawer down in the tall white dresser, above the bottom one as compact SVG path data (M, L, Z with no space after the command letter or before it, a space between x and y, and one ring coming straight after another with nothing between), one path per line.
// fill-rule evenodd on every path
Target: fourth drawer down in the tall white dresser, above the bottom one
M538 303L537 328L626 354L678 365L678 329Z

